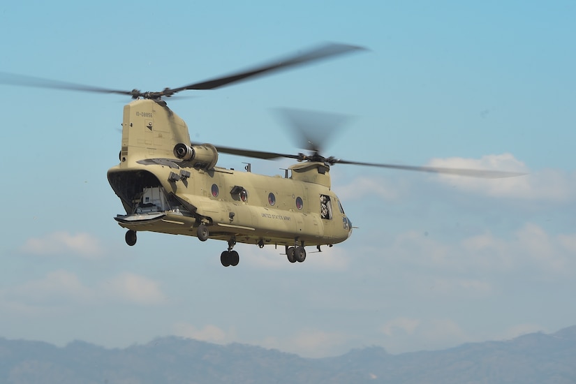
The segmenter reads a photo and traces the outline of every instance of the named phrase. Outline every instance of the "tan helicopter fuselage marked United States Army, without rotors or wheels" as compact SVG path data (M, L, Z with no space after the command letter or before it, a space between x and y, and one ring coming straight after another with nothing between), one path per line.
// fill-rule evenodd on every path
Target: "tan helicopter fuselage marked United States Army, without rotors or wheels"
M186 123L147 99L125 105L122 126L108 181L128 230L197 236L203 225L211 239L259 246L332 245L352 232L324 163L292 165L290 177L219 168L214 146L192 145Z

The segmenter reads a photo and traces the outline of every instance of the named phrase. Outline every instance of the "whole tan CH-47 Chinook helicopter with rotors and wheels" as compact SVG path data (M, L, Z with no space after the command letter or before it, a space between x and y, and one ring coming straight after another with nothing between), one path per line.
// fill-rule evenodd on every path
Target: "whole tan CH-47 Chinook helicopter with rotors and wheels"
M223 266L237 265L237 242L284 246L290 263L303 262L305 246L332 246L348 239L352 223L330 184L330 166L368 165L471 177L512 177L515 172L362 163L324 157L320 143L309 140L307 154L278 154L191 142L186 123L168 108L165 98L184 90L216 89L249 77L358 52L360 47L328 43L256 66L247 71L162 91L121 91L3 74L0 82L32 87L124 94L134 100L124 106L119 164L108 170L108 182L126 214L115 217L126 228L126 243L136 233L152 231L195 236L200 241L228 242ZM252 158L293 158L286 175L266 176L216 166L219 153Z

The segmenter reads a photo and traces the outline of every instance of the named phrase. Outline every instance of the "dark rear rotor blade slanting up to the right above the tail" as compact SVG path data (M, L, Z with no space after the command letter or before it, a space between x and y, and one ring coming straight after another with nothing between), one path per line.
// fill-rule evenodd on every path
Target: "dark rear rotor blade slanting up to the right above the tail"
M365 48L356 47L354 45L344 45L328 43L325 45L320 45L320 47L313 48L307 52L294 54L293 56L285 57L276 61L272 61L268 64L262 66L257 66L255 68L248 69L239 73L232 73L231 75L217 77L216 79L207 80L204 82L197 82L184 87L166 89L164 91L165 95L175 94L176 92L183 91L184 89L216 89L223 87L233 82L238 82L245 80L249 77L254 77L258 75L264 75L274 71L279 71L281 69L290 68L293 66L298 66L300 64L310 63L312 61L317 61L320 59L326 59L328 57L334 57L339 54L345 54L349 52L364 50Z

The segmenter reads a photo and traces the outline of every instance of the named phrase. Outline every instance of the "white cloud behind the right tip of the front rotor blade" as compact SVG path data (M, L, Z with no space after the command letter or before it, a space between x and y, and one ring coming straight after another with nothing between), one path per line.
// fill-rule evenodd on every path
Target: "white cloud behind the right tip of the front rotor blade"
M454 175L438 175L443 184L456 186L478 195L496 198L522 198L563 202L576 195L576 173L544 169L531 172L524 163L511 154L486 155L482 158L433 158L431 167L470 168L525 172L527 175L503 179L478 179Z

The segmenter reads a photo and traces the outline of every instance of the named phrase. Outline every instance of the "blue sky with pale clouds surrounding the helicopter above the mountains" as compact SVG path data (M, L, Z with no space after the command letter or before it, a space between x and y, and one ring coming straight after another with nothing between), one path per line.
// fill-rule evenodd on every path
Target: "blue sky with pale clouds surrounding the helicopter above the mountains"
M20 1L0 71L160 90L336 41L369 51L170 101L193 140L297 152L278 107L355 117L348 160L494 168L481 180L334 166L357 228L291 265L274 249L142 233L106 171L122 96L1 85L1 337L106 347L176 334L303 356L391 353L576 324L576 6L523 1ZM221 156L241 169L244 158ZM290 161L251 161L281 173Z

